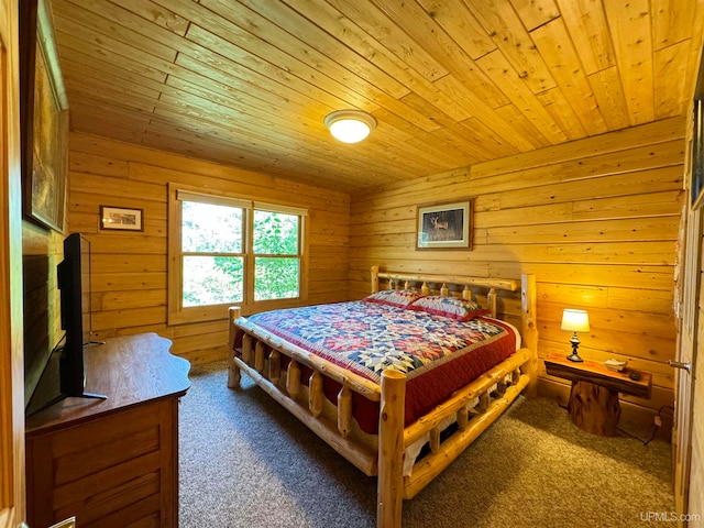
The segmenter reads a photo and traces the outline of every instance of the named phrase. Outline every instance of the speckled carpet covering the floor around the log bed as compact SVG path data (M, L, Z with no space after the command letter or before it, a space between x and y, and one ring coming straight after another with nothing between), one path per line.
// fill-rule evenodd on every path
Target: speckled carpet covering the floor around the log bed
M221 363L191 381L180 405L180 527L375 526L376 480L246 376L243 391L227 388ZM674 508L670 458L666 441L596 437L557 403L519 397L404 503L404 527L672 526L647 520Z

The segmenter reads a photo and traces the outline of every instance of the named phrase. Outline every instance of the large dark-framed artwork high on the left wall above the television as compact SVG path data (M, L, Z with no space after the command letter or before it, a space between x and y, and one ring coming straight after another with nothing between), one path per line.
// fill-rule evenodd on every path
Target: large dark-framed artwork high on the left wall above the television
M22 194L26 219L64 232L68 100L45 0L20 2Z

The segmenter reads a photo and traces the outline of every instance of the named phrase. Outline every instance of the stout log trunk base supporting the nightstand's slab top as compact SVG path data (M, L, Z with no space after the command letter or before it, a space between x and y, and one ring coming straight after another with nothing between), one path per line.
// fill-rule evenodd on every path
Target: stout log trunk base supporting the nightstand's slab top
M579 428L602 437L613 437L620 418L618 393L594 383L572 382L568 411Z

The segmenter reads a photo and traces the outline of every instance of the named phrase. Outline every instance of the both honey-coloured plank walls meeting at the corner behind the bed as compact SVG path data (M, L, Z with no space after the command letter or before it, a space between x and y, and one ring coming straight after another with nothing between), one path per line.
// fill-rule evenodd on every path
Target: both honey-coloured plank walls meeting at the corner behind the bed
M653 373L650 400L672 405L673 286L682 202L684 122L670 119L348 195L141 148L70 135L69 231L92 243L98 339L157 331L195 363L221 359L227 322L166 324L166 184L241 191L310 208L309 302L369 292L369 268L512 276L535 273L540 356L569 352L562 309L584 308L585 358L627 359ZM472 251L416 251L416 205L473 198ZM101 232L99 206L144 209L144 233ZM349 219L349 224L348 224ZM566 398L541 373L541 392Z

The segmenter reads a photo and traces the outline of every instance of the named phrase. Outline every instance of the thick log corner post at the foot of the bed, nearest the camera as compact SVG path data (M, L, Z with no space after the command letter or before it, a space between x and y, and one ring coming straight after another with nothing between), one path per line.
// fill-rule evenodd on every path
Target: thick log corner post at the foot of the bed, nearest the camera
M398 371L384 371L378 418L376 528L400 528L404 497L405 408L406 375Z

